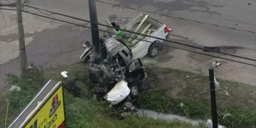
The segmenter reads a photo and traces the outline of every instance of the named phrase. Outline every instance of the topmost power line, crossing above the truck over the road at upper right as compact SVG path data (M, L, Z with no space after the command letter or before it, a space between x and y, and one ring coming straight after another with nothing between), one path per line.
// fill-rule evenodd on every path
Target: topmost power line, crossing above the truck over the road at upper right
M112 6L119 6L119 7L122 7L122 8L132 9L132 10L136 10L136 11L144 11L144 12L149 13L149 14L156 14L152 11L147 11L147 10L143 10L143 9L135 9L135 8L132 8L132 7L127 7L127 6L120 6L118 4L112 4L112 3L109 3L109 2L106 2L106 1L99 1L99 0L95 0L95 1L98 1L102 4L109 4L109 5L112 5ZM216 26L216 27L219 27L219 28L229 28L229 29L233 29L233 30L236 30L236 31L246 31L248 33L256 33L256 31L248 31L248 30L238 29L238 28L233 28L233 27L228 27L228 26L221 26L221 25L214 24L214 23L205 23L205 22L202 22L202 21L196 21L196 20L191 20L191 19L188 19L188 18L181 18L181 17L176 17L176 16L169 16L169 15L166 15L166 14L156 14L156 15L166 16L166 17L169 17L169 18L178 18L178 19L183 20L183 21L192 21L192 22L202 23L202 24L206 24L206 25L210 25L210 26Z

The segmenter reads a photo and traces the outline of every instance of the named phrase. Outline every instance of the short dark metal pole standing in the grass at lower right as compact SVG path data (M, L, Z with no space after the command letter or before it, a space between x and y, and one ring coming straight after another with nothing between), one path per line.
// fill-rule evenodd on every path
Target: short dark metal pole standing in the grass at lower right
M215 82L214 82L213 68L209 69L209 79L210 79L210 105L211 105L211 111L212 111L213 128L218 128L218 114L217 114L216 98L215 98Z

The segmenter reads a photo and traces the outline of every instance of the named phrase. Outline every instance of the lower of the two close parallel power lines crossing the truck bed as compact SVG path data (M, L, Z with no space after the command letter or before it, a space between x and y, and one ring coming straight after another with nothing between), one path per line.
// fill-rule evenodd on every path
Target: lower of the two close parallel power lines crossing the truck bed
M16 11L16 9L3 9L3 8L0 8L0 9L2 9L2 10L9 10L9 11ZM64 23L70 23L70 24L73 24L73 25L76 25L76 26L81 26L81 27L84 27L84 28L90 28L90 27L82 25L80 23L73 23L72 21L66 21L66 20L63 20L63 19L53 18L53 17L50 17L50 16L43 16L41 14L31 13L29 11L23 11L23 12L25 12L27 14L33 14L33 15L36 15L36 16L41 16L41 17L44 17L44 18L50 18L50 19L53 19L55 21L61 21L61 22L64 22ZM93 28L90 28L90 29L93 29ZM98 31L102 31L102 32L106 32L106 33L111 33L109 31L104 31L104 30L101 30L101 29L98 29ZM112 33L112 34L117 35L117 33ZM127 37L127 36L123 36L123 37ZM130 38L132 38L132 37L130 37ZM132 39L136 39L138 41L146 41L146 40L142 40L142 39L139 39L139 38L132 38ZM154 43L154 42L151 42L151 41L146 41L146 42ZM236 62L236 63L245 64L245 65L252 65L252 66L256 67L256 65L254 65L254 64L245 63L245 62L242 62L242 61L239 61L239 60L232 60L232 59L229 59L229 58L223 58L223 57L219 57L219 56L216 56L216 55L209 55L209 54L206 54L206 53L200 53L200 52L196 52L196 51L193 51L193 50L177 48L177 47L174 47L174 46L167 46L167 45L164 45L162 43L156 43L156 44L159 44L160 46L166 46L166 47L169 47L169 48L176 48L176 49L179 49L179 50L186 50L186 51L189 51L191 53L198 53L198 54L201 54L201 55L207 55L207 56L210 56L210 57L213 57L213 58L220 58L220 59L223 59L223 60L230 60L230 61L233 61L233 62Z

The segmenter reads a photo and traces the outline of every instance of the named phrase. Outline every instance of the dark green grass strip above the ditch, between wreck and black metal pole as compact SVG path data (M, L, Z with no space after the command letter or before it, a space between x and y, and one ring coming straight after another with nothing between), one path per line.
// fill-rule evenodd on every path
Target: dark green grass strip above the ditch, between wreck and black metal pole
M174 99L169 97L165 90L156 90L140 95L136 105L157 112L181 114L192 119L210 117L210 108L206 103L198 100Z

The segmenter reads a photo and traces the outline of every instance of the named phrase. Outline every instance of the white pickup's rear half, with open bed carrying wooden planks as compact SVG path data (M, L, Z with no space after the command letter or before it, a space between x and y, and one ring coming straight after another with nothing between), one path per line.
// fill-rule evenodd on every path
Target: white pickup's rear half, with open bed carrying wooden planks
M110 21L108 19L106 21L107 25L115 27L107 28L108 31L110 31L110 36L117 39L117 41L122 41L132 50L132 60L143 58L145 55L149 55L151 58L155 57L159 53L159 44L163 41L122 31L119 30L119 28L163 39L168 38L169 33L171 32L169 26L145 14L140 14L137 18L134 18L132 21L121 27L119 27L117 23L111 22L111 19Z

